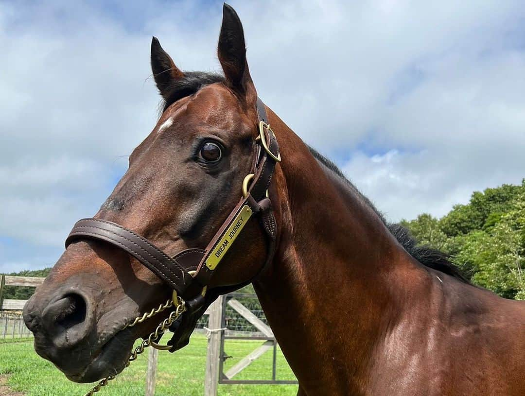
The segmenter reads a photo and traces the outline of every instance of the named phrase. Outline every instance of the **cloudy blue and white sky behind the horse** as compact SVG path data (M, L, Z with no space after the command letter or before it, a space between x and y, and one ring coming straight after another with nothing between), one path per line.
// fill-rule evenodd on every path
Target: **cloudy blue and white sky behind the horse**
M0 1L0 273L53 265L153 129L151 36L220 70L222 3ZM525 177L519 1L232 1L260 97L390 221Z

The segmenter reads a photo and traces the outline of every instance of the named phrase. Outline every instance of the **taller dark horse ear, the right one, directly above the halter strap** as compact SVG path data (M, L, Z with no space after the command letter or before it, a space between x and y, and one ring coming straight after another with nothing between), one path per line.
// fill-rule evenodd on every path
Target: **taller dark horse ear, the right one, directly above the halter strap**
M223 24L220 27L217 55L228 86L243 95L247 101L255 103L257 92L246 61L243 25L235 10L226 3L223 6Z

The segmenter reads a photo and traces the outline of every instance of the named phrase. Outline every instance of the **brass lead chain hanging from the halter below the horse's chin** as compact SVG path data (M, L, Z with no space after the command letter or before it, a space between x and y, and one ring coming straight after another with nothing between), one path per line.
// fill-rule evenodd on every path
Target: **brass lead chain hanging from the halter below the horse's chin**
M164 331L167 330L168 327L170 327L170 325L175 322L175 320L178 319L178 317L180 317L184 311L186 311L186 305L185 305L185 302L182 298L180 297L177 297L177 302L178 302L178 305L177 307L175 308L175 311L173 311L170 316L168 316L166 319L164 319L160 324L159 326L157 326L157 328L155 329L155 331L153 331L153 333L151 333L148 338L146 338L145 340L142 341L142 343L136 347L133 352L131 352L131 355L128 359L128 361L126 362L125 367L128 367L130 365L130 363L134 360L137 360L137 357L142 354L142 352L144 352L144 349L148 348L152 343L154 343L154 341L159 341L160 338L162 337L162 335L164 334ZM151 312L149 313L146 313L144 315L141 315L137 318L135 318L135 320L133 320L133 322L129 325L126 325L124 326L124 328L127 328L127 327L132 327L134 325L136 325L137 323L142 323L144 322L145 319L148 319L150 317L152 317L153 315L156 315L162 311L164 311L165 309L169 308L173 306L173 300L169 300L166 302L166 304L164 305L160 305L159 308L157 309L152 309ZM96 386L94 386L88 393L86 393L84 396L92 396L93 393L97 393L100 388L102 387L105 387L109 381L111 381L112 379L114 379L116 377L116 375L110 375L106 378L102 378L98 384L96 384Z

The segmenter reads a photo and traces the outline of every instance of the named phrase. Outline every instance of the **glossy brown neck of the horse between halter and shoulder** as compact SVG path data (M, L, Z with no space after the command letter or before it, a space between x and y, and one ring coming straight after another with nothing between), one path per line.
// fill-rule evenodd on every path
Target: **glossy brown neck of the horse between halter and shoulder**
M421 270L358 192L277 116L270 121L283 158L275 175L280 241L254 287L307 393L359 391L377 340L401 312L399 291L410 294Z

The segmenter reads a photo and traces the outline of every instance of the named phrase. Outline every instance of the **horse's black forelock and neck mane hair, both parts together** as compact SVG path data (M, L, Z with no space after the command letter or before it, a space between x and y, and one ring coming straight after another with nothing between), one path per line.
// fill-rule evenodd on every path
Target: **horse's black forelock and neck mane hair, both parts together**
M171 82L169 94L161 102L160 109L162 112L164 112L177 100L191 96L206 85L216 82L224 82L224 76L218 73L204 71L186 71L184 72L183 78ZM310 149L310 153L314 156L314 158L316 158L325 167L330 169L331 172L345 181L346 185L352 190L352 192L357 194L377 214L377 216L379 216L387 229L408 252L408 254L410 254L414 259L426 267L453 276L462 282L469 283L465 276L461 274L459 267L451 260L448 254L437 249L430 248L426 245L418 245L417 240L411 236L410 231L401 226L401 224L390 223L386 221L383 213L375 208L370 199L361 194L361 192L341 172L341 169L339 169L337 165L335 165L330 159L321 155L318 151L316 151L316 149L310 146L308 146L308 148Z

